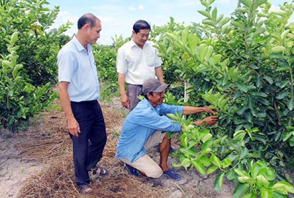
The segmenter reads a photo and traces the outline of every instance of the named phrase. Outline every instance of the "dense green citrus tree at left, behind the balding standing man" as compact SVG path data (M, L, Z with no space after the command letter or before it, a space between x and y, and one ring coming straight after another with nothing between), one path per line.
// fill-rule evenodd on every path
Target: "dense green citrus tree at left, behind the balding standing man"
M57 82L58 36L70 24L48 31L59 7L49 10L47 4L0 1L0 125L13 132L58 98L51 89Z

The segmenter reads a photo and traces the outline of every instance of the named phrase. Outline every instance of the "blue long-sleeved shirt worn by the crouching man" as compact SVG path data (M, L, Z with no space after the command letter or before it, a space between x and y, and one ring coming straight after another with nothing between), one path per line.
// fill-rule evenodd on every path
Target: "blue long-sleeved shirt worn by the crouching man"
M126 158L134 162L145 155L144 145L148 137L156 130L179 132L181 124L174 124L165 116L175 112L183 112L183 106L161 104L153 108L147 99L139 102L123 123L116 158Z

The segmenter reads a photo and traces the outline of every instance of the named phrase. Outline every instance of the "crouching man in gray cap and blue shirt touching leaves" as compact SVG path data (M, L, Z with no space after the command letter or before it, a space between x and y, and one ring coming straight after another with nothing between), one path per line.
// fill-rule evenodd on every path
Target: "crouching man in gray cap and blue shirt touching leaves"
M175 106L163 104L165 90L168 84L161 84L158 79L147 79L142 87L145 99L126 117L119 142L117 144L116 158L121 159L128 167L130 173L138 176L140 173L158 178L162 174L174 180L181 179L181 176L167 165L168 154L171 148L171 139L161 131L179 132L181 124L174 124L166 114L175 112L183 115L191 115L200 112L212 113L215 111L207 107ZM163 115L163 116L161 116ZM201 121L191 124L206 125L216 124L218 116L209 116ZM149 156L146 150L159 144L160 163L157 165Z

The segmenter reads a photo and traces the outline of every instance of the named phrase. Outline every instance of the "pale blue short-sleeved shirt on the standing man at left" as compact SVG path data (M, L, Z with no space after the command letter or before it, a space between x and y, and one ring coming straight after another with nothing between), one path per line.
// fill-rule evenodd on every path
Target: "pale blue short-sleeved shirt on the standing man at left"
M57 55L58 81L69 82L71 101L99 99L99 81L92 46L88 52L74 36Z

